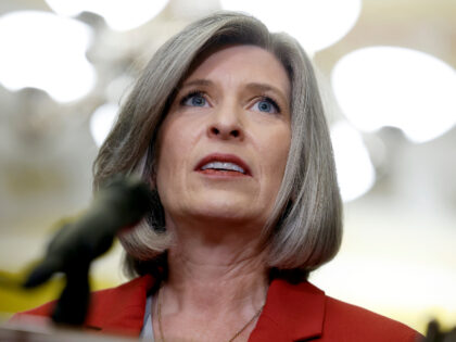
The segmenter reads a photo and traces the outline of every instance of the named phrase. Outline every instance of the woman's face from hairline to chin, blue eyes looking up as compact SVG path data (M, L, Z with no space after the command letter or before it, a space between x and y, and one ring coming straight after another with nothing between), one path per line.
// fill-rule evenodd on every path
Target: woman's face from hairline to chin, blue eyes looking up
M180 86L159 135L156 186L170 220L263 227L290 149L290 80L275 55L229 46Z

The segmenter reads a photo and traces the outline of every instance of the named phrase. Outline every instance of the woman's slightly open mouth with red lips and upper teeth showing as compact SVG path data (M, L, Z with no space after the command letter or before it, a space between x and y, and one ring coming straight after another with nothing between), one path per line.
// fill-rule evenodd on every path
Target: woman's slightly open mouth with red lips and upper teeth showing
M243 176L252 176L246 163L235 154L213 153L203 157L194 170L214 174L230 173Z

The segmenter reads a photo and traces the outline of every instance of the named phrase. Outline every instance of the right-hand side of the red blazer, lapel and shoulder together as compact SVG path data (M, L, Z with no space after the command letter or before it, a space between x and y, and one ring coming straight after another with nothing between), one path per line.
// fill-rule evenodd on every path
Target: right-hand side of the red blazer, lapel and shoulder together
M254 341L271 333L275 341L415 342L420 337L406 325L330 297L308 281L281 279L270 283Z

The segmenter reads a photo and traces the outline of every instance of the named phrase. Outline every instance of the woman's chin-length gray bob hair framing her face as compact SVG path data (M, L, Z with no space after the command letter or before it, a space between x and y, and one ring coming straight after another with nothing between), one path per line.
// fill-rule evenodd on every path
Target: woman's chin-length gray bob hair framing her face
M163 268L157 261L164 259L170 246L164 210L154 190L155 141L161 123L176 89L201 54L226 45L253 45L271 52L291 81L291 145L281 188L261 237L268 251L268 267L307 275L339 251L342 204L311 61L292 37L269 33L252 16L218 12L189 25L156 51L94 161L94 190L116 174L136 174L154 191L150 215L119 237L130 275L154 274L157 267Z

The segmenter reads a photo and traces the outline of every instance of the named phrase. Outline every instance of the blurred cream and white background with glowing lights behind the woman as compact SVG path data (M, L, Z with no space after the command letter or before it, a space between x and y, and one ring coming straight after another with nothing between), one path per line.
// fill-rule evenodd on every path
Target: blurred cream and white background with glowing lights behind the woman
M144 63L221 9L314 61L344 199L340 254L311 281L423 332L456 325L455 0L2 0L0 269L23 270L91 199L91 164ZM94 288L126 280L121 248ZM3 317L56 296L0 289Z

